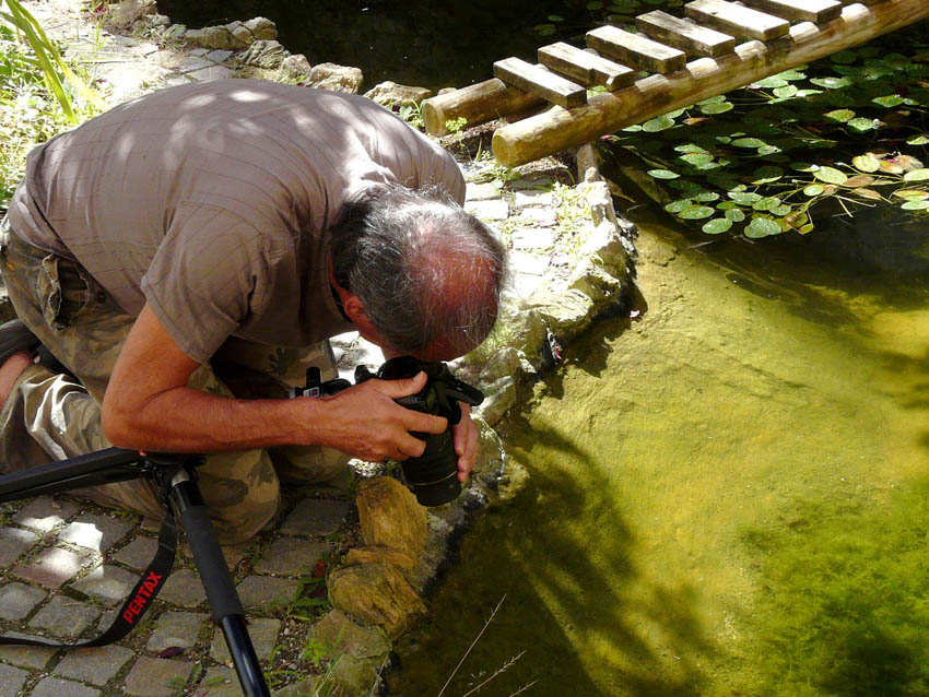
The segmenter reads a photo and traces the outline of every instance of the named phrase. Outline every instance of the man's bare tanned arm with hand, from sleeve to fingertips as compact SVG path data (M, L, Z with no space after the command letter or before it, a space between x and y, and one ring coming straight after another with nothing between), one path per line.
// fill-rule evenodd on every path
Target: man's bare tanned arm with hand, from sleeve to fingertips
M371 461L422 454L409 432L442 433L446 421L404 409L425 375L367 380L333 397L236 400L187 387L199 367L146 305L119 354L103 402L104 432L116 446L216 452L275 445L321 445Z

